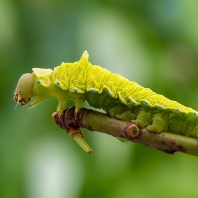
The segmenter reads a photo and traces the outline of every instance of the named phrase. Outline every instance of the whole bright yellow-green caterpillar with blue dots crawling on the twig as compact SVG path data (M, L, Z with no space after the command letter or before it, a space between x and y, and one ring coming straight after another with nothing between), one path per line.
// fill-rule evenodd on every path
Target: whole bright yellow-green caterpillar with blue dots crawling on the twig
M46 98L56 97L59 115L70 99L75 102L76 112L86 100L111 117L131 121L148 131L198 138L197 111L92 65L88 57L85 51L78 62L62 63L54 70L33 68L33 73L19 79L14 99L22 106L35 97L29 105L34 107Z

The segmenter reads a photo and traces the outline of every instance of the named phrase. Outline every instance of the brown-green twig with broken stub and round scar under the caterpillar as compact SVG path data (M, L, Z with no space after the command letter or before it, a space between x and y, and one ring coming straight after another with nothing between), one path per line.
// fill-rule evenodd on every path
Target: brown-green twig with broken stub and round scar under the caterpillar
M195 138L170 132L152 133L145 128L138 128L136 124L111 118L107 114L97 111L82 108L75 114L75 107L70 107L65 109L60 117L57 112L53 113L52 117L55 123L65 129L87 153L92 153L92 149L84 141L80 127L151 146L169 154L180 151L198 155L198 140Z

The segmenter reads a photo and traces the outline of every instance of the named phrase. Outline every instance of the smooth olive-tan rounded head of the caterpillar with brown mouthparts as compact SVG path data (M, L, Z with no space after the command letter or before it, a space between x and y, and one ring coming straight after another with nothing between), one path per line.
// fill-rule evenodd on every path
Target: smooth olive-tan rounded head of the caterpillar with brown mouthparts
M23 74L18 81L14 100L21 106L26 105L33 96L34 77L33 74Z

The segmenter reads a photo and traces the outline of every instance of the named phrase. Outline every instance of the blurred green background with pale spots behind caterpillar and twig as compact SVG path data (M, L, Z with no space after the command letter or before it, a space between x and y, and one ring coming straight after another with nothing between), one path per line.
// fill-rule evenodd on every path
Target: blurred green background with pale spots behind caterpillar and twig
M0 197L185 198L198 194L198 157L168 155L84 131L92 155L51 119L57 107L15 108L33 67L90 61L198 109L198 1L1 0Z

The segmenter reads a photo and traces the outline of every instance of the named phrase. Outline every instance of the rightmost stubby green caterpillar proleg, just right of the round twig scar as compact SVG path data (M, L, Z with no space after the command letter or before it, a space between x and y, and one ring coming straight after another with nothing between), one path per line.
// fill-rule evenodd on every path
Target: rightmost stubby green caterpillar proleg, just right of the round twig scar
M146 129L151 132L160 133L162 131L168 131L168 125L162 114L156 114L153 117L152 124L147 126Z

